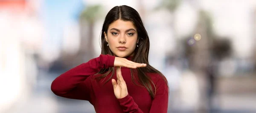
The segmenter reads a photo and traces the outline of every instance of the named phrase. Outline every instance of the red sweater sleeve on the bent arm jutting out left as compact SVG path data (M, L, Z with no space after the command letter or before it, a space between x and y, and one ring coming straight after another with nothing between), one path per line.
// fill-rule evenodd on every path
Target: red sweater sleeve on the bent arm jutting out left
M89 76L96 74L100 69L113 67L114 60L114 56L100 55L82 63L53 80L51 90L57 96L90 101L92 86Z

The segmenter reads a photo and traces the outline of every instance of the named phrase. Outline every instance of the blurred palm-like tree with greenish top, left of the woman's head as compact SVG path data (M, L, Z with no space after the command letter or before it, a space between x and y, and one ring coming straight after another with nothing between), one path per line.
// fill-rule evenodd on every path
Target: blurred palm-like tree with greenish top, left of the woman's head
M102 6L86 6L79 15L81 37L79 51L74 55L62 52L61 59L57 62L64 69L70 69L95 57L93 46L93 38L96 38L94 36L94 25L98 19L102 18Z

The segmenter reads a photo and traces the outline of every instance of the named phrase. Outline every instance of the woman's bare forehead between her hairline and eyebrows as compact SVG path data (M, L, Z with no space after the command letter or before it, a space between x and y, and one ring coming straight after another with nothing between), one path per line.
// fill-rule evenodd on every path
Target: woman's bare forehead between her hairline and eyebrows
M122 19L118 19L118 20L112 22L109 25L108 29L110 30L111 28L116 28L116 29L119 29L119 30L127 30L127 29L133 28L133 29L136 30L133 22L131 22L131 21L123 21Z

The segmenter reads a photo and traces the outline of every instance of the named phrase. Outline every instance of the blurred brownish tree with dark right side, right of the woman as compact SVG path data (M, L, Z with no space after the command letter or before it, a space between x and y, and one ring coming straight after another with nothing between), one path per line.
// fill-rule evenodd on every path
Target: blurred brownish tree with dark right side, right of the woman
M230 40L217 36L212 25L210 14L201 10L194 34L183 40L186 50L185 57L189 58L191 69L207 69L211 58L220 61L231 54ZM195 39L195 34L200 34L200 40Z

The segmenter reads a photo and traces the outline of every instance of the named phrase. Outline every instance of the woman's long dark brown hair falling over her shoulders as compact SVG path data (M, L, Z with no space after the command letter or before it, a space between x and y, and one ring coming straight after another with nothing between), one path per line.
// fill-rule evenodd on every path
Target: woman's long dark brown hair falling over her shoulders
M136 47L136 49L134 50L134 56L132 57L131 61L147 64L146 67L137 68L136 71L138 73L139 83L148 90L151 98L154 98L154 95L156 94L156 88L153 81L151 80L150 77L146 75L146 73L157 73L165 80L167 86L168 86L168 82L161 72L159 72L157 69L155 69L148 63L148 52L149 52L148 33L145 30L145 27L143 25L143 22L142 22L142 19L140 18L139 13L134 8L131 8L125 5L115 6L108 12L102 27L101 54L113 55L113 52L111 52L110 48L107 46L107 41L105 40L104 32L108 33L109 25L112 22L116 21L117 19L122 19L124 21L131 21L133 22L134 26L137 28L138 38L139 38L139 47ZM140 54L137 54L137 53L140 53ZM98 79L105 78L108 74L112 72L111 77L109 77L108 80L106 80L105 82L107 83L113 77L114 75L113 71L114 71L114 67L109 69L101 69L97 74L102 74L102 76L99 76L97 78ZM131 77L132 77L133 83L136 84L134 82L134 75L133 75L134 71L135 71L134 69L131 69ZM152 86L154 87L154 91Z

